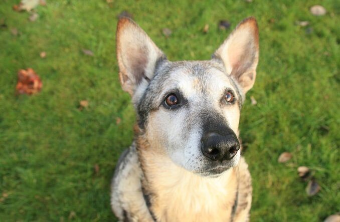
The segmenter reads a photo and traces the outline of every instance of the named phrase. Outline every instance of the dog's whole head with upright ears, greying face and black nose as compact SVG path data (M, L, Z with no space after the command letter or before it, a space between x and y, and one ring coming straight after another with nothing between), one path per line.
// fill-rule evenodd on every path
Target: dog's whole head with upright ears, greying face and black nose
M137 112L151 149L200 175L238 164L238 125L259 54L254 18L242 21L208 61L170 62L138 25L117 27L123 90Z

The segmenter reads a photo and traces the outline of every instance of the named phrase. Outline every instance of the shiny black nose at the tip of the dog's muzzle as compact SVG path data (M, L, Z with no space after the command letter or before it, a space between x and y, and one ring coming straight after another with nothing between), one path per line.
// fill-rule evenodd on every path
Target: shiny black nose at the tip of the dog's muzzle
M201 139L201 149L203 154L211 160L230 160L240 149L240 143L235 133L225 136L207 133Z

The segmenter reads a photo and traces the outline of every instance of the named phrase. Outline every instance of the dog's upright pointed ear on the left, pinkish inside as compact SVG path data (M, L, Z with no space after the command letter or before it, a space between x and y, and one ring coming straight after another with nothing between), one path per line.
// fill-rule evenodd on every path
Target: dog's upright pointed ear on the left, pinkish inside
M124 91L133 96L143 79L150 81L157 61L165 59L165 55L147 34L128 18L118 21L116 47L120 84Z

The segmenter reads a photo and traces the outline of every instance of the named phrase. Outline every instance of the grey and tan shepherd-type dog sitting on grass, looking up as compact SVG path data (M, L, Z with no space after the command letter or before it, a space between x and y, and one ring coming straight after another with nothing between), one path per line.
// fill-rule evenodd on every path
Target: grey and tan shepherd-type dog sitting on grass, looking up
M118 219L249 221L252 185L238 126L256 77L256 20L243 20L207 61L167 60L128 18L118 22L116 47L137 116L111 185Z

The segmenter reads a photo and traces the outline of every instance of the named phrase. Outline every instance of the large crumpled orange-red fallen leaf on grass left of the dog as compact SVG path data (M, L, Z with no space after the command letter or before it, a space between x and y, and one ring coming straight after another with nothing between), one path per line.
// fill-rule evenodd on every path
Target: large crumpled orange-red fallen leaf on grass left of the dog
M33 69L20 70L18 72L17 93L32 95L41 90L43 83Z

